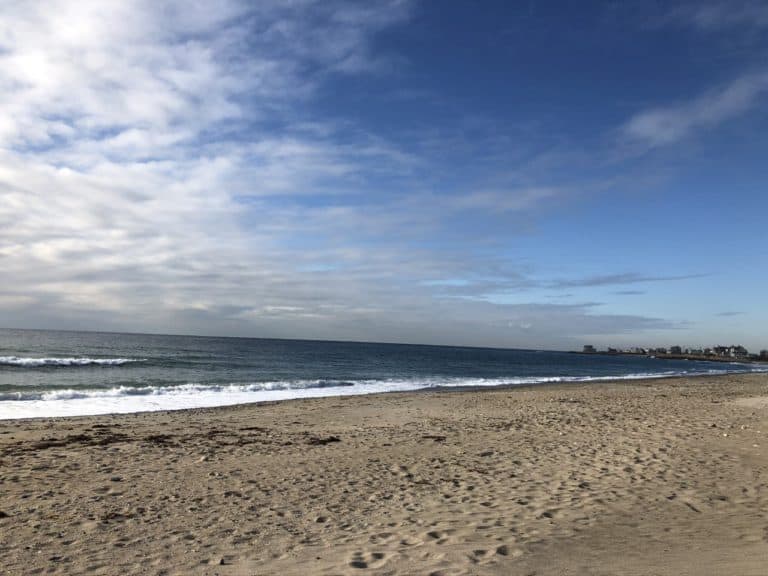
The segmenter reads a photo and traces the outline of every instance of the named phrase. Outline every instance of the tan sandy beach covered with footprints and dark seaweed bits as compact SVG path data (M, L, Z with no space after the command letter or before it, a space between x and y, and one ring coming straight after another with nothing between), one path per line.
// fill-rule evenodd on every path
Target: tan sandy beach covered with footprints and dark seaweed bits
M768 376L0 422L3 574L768 573Z

